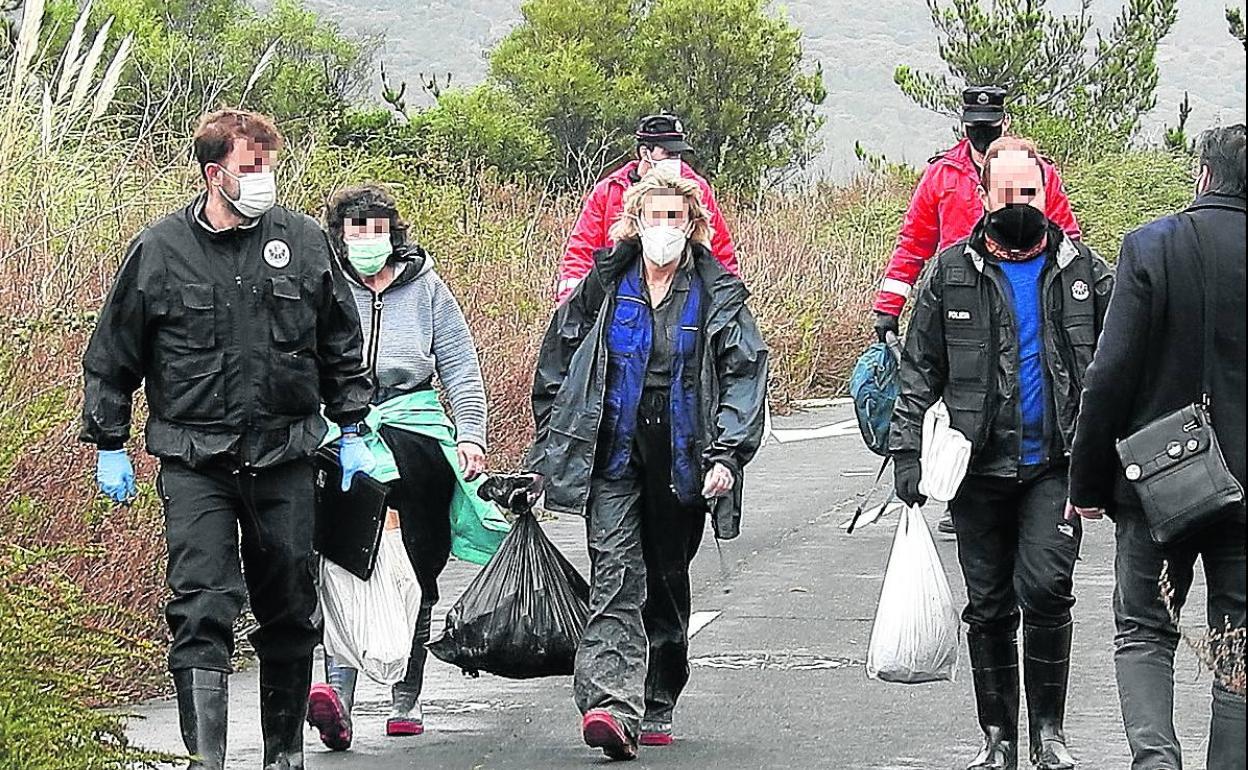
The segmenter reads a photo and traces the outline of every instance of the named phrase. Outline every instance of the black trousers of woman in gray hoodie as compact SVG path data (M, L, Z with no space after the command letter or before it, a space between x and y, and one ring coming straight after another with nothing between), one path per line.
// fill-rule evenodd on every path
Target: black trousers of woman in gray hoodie
M458 482L437 441L397 428L383 427L381 433L394 454L401 477L391 483L388 503L398 510L403 547L421 584L421 614L407 675L396 686L419 696L429 655L424 645L429 641L433 607L439 597L438 577L451 558L451 500Z

